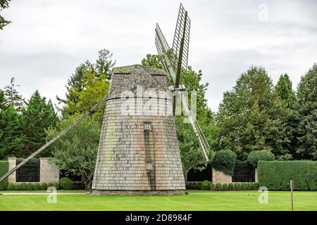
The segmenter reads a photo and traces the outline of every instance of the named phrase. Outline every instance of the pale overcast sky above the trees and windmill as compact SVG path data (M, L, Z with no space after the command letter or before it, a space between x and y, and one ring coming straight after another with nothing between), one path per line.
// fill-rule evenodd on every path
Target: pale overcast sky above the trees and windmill
M116 65L140 63L156 53L159 23L169 41L180 1L12 0L2 11L11 20L0 31L0 89L15 77L30 98L37 89L56 103L85 60L109 49ZM293 88L317 63L317 1L182 1L192 20L189 65L209 82L207 98L218 110L223 92L251 65L262 65L276 83L290 75Z

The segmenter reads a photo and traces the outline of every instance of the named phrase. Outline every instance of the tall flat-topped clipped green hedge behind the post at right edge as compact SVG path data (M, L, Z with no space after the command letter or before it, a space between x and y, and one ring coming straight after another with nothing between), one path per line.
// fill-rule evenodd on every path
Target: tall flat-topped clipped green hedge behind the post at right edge
M260 186L271 191L289 191L290 180L294 190L317 191L316 161L259 161Z

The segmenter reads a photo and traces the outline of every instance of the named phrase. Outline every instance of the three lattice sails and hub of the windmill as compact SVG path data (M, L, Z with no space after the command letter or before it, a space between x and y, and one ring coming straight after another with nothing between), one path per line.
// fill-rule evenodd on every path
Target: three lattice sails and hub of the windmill
M204 161L207 164L209 161L209 143L206 140L194 113L191 109L189 109L187 98L183 92L186 88L184 85L180 84L180 75L182 70L187 71L189 31L190 19L187 15L187 11L185 11L185 8L182 4L180 4L172 48L168 46L168 42L166 41L159 24L156 24L155 44L159 56L161 56L163 68L168 75L168 79L171 83L173 83L173 86L170 86L169 88L170 91L174 93L173 113L175 115L175 108L177 105L176 101L180 98L183 109L185 110L185 115L187 115L190 124L192 124L192 129L194 130L194 134L197 136Z

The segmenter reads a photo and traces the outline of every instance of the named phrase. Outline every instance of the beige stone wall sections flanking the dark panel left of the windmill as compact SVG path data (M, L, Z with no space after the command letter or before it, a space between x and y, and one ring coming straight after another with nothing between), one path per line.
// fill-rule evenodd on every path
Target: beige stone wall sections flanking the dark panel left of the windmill
M13 169L15 165L16 158L8 158L8 169ZM59 181L59 169L56 165L49 162L49 158L39 158L39 168L39 183ZM15 178L16 172L8 176L8 183L17 183Z

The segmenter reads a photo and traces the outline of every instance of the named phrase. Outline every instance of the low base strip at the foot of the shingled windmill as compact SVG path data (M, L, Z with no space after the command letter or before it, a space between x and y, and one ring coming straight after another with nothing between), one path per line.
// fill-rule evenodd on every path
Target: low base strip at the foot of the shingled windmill
M93 195L185 195L185 190L168 191L101 191L92 190Z

